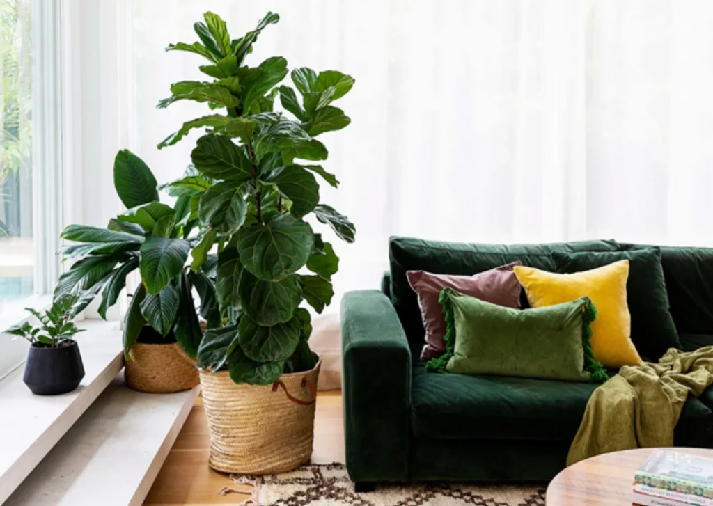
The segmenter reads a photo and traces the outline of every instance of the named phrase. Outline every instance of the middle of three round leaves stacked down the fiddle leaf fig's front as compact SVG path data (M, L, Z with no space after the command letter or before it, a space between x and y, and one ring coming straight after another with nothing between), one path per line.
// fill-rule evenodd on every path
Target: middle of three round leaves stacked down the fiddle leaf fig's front
M243 271L240 278L240 305L258 325L277 325L294 316L301 299L294 276L279 282L262 281Z

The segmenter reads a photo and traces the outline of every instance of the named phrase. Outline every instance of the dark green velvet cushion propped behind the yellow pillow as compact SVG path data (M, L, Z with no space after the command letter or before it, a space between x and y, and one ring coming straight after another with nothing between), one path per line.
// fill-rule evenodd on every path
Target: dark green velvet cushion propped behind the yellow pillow
M659 248L621 252L553 254L557 272L570 274L629 261L627 305L631 314L631 340L642 356L658 361L668 348L681 349L676 325L669 310Z

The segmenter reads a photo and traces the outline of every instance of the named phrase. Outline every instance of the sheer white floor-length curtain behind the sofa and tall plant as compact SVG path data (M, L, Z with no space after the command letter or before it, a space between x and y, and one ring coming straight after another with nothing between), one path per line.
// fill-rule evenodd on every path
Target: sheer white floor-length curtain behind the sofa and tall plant
M338 386L327 371L339 297L378 286L391 234L713 245L713 2L134 0L133 73L119 72L134 93L128 147L162 181L181 174L198 134L155 145L205 109L155 109L170 83L205 78L200 57L163 48L197 40L206 10L233 36L267 10L282 16L252 65L281 55L356 78L339 104L352 125L323 139L342 185L322 187L322 201L357 234L334 239L337 296L311 341L322 386Z

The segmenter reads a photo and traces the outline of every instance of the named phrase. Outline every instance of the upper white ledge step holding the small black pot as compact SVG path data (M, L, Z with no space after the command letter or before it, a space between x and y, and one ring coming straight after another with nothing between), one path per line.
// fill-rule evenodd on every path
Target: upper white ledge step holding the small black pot
M22 382L24 365L0 381L0 504L9 497L123 367L116 322L83 321L77 335L81 385L61 396L36 396ZM48 504L48 503L46 503Z

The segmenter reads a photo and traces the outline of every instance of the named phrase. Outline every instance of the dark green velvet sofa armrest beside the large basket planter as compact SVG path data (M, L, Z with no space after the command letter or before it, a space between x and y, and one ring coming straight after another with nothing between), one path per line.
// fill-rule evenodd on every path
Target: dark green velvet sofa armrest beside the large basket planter
M349 477L406 480L411 351L396 310L381 291L344 295L342 361Z

